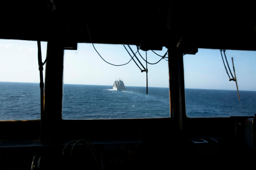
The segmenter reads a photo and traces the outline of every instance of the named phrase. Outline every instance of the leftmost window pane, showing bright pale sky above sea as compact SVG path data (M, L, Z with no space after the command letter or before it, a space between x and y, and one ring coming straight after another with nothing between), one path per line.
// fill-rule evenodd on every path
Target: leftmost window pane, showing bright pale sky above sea
M37 42L0 39L0 120L40 119L39 82Z

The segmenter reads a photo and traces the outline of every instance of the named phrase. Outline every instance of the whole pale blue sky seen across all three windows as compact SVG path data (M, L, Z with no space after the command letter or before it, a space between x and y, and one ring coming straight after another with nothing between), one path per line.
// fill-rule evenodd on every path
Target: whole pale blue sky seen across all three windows
M46 57L46 42L41 42L42 60ZM126 46L127 47L127 46ZM122 45L95 44L101 56L113 64L127 63L131 57ZM136 46L132 46L136 52ZM155 51L164 55L167 51ZM0 81L39 82L37 42L20 40L0 40ZM64 83L113 85L117 78L126 86L146 86L146 73L141 73L131 61L125 66L105 63L92 44L78 44L78 50L64 52ZM145 58L145 52L140 50ZM256 90L256 52L226 50L230 69L233 73L233 57L239 90ZM146 67L145 61L137 57ZM148 62L155 63L161 57L147 52ZM224 56L223 56L224 57ZM227 66L227 65L226 65ZM44 67L45 71L45 67ZM236 89L233 81L228 81L220 50L199 49L196 55L184 56L185 88ZM161 60L155 65L148 64L148 86L168 87L168 62Z

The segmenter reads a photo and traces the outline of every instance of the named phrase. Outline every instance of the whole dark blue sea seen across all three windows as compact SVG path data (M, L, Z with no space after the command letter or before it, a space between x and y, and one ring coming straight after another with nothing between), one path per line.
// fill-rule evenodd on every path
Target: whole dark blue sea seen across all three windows
M63 119L170 117L169 89L64 84ZM256 91L185 89L188 117L254 116ZM0 82L0 120L40 119L39 83Z

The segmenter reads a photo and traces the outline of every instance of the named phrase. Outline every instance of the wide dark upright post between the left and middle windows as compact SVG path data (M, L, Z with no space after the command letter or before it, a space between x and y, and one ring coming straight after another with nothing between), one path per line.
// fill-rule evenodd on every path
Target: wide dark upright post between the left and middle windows
M63 45L61 41L49 41L45 71L44 141L57 140L61 132L63 100Z

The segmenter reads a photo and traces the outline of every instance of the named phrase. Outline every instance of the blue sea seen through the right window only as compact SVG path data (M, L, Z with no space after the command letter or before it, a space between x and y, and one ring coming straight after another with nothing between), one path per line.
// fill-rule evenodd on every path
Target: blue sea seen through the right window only
M185 89L188 117L254 116L256 91Z

